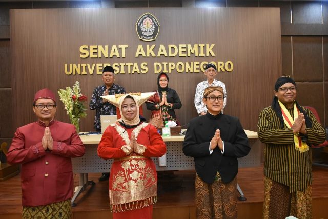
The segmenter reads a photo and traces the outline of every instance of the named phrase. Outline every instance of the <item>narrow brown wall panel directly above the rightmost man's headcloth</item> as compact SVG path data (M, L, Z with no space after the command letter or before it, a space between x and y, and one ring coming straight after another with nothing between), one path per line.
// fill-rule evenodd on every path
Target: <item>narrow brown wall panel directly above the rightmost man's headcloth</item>
M282 75L293 76L292 37L281 37Z

